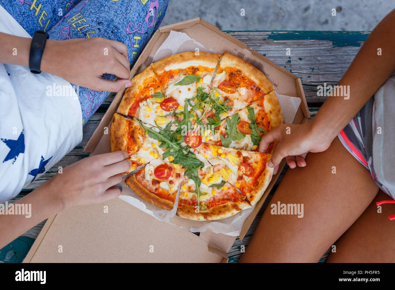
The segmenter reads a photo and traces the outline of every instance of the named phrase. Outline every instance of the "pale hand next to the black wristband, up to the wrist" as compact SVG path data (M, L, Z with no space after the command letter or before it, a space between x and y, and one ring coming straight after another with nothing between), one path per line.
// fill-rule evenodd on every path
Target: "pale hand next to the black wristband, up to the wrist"
M126 45L101 37L48 40L41 70L96 91L119 92L132 85ZM118 80L102 78L104 73Z

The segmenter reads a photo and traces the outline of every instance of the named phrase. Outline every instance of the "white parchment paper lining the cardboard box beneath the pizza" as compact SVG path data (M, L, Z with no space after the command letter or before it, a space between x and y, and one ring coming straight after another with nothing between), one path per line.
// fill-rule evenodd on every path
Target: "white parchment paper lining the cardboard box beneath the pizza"
M183 32L171 31L167 39L159 47L158 51L154 55L152 62L156 62L173 54L185 52L185 51L199 51L217 53L213 49L207 49L196 40L190 38ZM278 101L280 102L284 123L292 123L295 117L296 111L299 107L301 99L298 97L290 97L286 95L277 95ZM179 193L176 197L176 205L171 211L162 210L153 204L145 201L139 195L134 193L130 187L122 182L122 194L120 199L132 204L136 208L148 213L156 219L171 225L190 230L191 232L204 232L207 229L212 230L214 233L222 233L229 236L238 236L245 219L250 215L253 208L243 210L226 219L220 219L218 221L192 221L190 219L184 219L175 215L178 205Z

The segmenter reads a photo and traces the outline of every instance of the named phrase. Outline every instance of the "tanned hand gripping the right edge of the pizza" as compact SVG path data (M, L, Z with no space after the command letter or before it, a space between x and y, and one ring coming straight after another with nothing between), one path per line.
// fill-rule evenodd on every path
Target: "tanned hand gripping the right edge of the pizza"
M329 148L333 138L329 138L313 127L313 123L301 125L281 124L269 133L263 135L259 144L259 151L266 152L269 144L278 140L275 151L268 162L269 167L275 167L285 157L290 168L305 167L305 157L308 152L322 152Z

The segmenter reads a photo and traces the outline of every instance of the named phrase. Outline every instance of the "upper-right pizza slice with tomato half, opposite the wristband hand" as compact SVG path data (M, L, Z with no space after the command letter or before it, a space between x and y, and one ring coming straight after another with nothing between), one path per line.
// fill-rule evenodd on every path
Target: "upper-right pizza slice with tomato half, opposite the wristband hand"
M273 85L259 69L233 54L224 52L211 92L222 104L231 107L219 116L221 119L247 107L272 90Z

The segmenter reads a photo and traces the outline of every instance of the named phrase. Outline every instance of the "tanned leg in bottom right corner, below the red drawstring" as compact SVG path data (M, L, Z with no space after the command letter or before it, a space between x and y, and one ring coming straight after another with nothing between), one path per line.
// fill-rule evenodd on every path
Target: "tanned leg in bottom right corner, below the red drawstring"
M395 262L395 204L382 204L378 213L376 202L392 200L380 190L369 207L335 243L336 253L331 253L329 263L379 263Z

